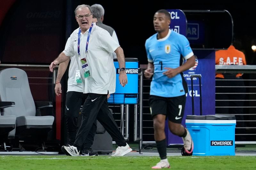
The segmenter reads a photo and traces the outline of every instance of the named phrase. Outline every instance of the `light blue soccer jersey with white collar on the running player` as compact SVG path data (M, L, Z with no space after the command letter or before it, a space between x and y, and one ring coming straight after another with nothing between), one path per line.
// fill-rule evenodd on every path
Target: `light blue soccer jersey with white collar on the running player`
M188 39L171 31L163 39L157 40L157 33L145 43L148 62L154 64L154 75L150 85L150 95L161 97L177 97L188 92L188 86L182 74L168 78L163 74L164 67L175 69L180 66L180 55L188 59L194 55Z

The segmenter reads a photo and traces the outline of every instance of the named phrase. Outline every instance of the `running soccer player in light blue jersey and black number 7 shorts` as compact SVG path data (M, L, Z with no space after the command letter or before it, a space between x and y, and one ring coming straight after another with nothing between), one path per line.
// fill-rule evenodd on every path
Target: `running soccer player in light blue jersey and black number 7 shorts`
M166 10L156 11L153 19L157 33L146 40L148 68L146 78L153 76L150 85L149 105L154 123L154 137L161 161L154 169L169 168L166 157L166 137L164 124L166 116L170 131L182 137L184 149L191 154L194 148L189 131L181 125L186 102L188 86L182 71L195 65L195 56L188 39L171 29L170 13ZM182 64L182 58L187 60Z

